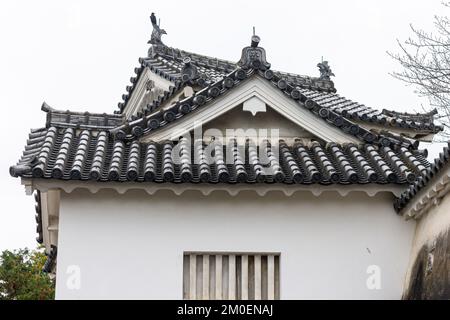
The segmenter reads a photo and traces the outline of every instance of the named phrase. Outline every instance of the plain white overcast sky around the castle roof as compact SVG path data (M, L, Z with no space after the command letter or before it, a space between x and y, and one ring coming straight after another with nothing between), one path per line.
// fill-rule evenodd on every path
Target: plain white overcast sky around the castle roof
M252 26L272 68L318 76L330 61L338 93L374 108L420 110L427 101L388 73L386 54L409 24L431 30L440 0L322 1L20 1L0 3L0 251L35 247L34 199L10 177L40 106L116 109L138 57L146 56L149 15L161 18L176 48L237 61ZM436 148L434 148L436 149Z

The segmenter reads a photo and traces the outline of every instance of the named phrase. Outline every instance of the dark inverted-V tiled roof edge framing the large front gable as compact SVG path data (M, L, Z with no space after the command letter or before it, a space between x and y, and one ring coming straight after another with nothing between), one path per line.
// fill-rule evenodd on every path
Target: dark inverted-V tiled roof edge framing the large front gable
M202 90L196 92L193 96L188 97L182 101L176 102L168 108L155 111L145 117L137 120L127 122L122 126L111 130L118 139L134 140L151 131L158 130L170 122L175 122L177 119L194 112L195 110L206 107L208 102L225 94L232 88L245 82L253 75L259 74L269 81L275 88L278 88L291 99L296 101L299 108L306 108L316 116L322 118L330 125L338 127L340 130L359 138L363 142L376 143L381 146L401 145L407 148L415 147L417 144L414 141L395 137L393 135L382 135L374 131L369 131L352 120L349 120L341 115L342 108L351 108L347 102L339 102L342 98L333 96L332 93L325 93L319 91L312 91L309 89L302 89L291 85L284 80L280 75L277 75L271 70L265 72L261 70L243 70L236 69L223 79L210 84ZM355 111L356 112L356 111Z

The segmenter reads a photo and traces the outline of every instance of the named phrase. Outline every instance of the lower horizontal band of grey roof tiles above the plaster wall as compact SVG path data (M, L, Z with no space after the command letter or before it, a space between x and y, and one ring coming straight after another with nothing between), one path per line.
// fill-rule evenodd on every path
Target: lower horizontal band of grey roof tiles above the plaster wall
M172 150L177 148L177 152ZM420 151L372 144L327 145L298 141L278 150L248 141L206 146L187 140L166 143L125 142L106 130L50 127L30 133L12 176L62 180L227 183L412 183L429 164ZM211 146L209 147L211 148ZM278 156L277 156L278 155ZM261 157L267 158L265 163ZM231 159L230 161L228 159ZM197 161L195 161L197 160Z

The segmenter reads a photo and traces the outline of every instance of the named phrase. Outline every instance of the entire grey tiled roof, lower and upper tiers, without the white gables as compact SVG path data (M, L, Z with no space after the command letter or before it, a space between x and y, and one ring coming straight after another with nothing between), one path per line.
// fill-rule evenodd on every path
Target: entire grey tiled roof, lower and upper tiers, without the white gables
M428 163L418 143L388 130L399 126L427 134L439 130L433 114L411 115L393 111L377 111L336 94L328 63L326 75L300 76L273 71L258 47L259 37L242 50L238 63L220 60L154 44L147 58L139 59L136 77L115 114L92 114L58 111L44 104L46 127L32 130L25 151L17 165L10 168L13 176L62 180L154 181L154 182L279 182L279 183L413 183ZM142 72L167 79L172 86L134 118L122 114ZM323 69L322 68L322 69ZM295 145L280 143L260 147L214 145L213 164L196 163L195 154L204 146L189 146L184 140L142 143L139 138L177 121L224 95L248 79L259 76L274 88L329 125L361 140L360 145L345 146L320 142ZM195 93L172 105L165 103L185 85ZM160 108L164 104L164 110ZM360 122L383 125L386 130L368 130ZM359 124L358 124L359 123ZM278 141L273 141L278 145ZM176 146L176 147L175 147ZM180 149L175 156L172 149ZM189 153L188 153L189 151ZM263 164L263 154L270 161ZM228 156L232 161L225 162ZM178 158L182 162L178 162ZM203 159L201 157L201 159ZM270 171L270 170L271 171ZM269 170L269 171L268 171Z

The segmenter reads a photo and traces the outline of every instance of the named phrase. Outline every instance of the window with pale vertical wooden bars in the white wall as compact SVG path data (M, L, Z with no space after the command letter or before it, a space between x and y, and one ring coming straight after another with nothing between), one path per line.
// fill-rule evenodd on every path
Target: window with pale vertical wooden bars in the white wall
M184 253L183 299L279 298L279 253Z

